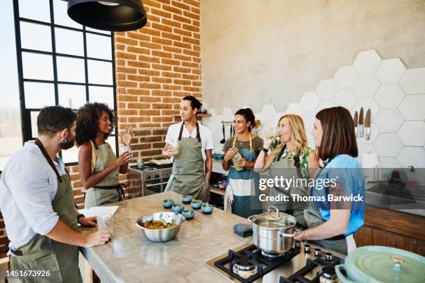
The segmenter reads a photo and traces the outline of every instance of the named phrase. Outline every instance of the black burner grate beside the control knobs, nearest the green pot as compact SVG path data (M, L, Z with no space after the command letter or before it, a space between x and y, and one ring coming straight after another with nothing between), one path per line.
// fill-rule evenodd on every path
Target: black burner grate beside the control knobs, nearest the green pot
M285 278L281 276L281 279L279 280L279 283L319 283L320 277L323 275L323 272L320 271L317 273L313 279L308 279L304 277L307 273L310 273L310 271L313 271L317 266L328 266L330 268L333 268L335 270L335 266L338 264L343 264L344 259L340 259L339 257L333 256L333 259L331 261L322 259L321 257L316 257L315 259L307 259L306 266L301 268L296 273L292 274L290 277Z

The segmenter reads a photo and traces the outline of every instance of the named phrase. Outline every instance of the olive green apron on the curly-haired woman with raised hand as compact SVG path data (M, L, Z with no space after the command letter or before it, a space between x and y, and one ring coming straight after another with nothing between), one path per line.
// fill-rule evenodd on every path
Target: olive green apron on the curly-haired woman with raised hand
M110 148L109 144L101 144L97 146L96 142L92 142L92 158L94 154L94 162L92 168L92 174L98 173L106 169L106 167L113 164L117 160L117 156ZM110 172L103 180L97 183L95 186L88 189L85 194L84 207L90 208L99 205L105 205L106 203L116 203L122 200L124 197L124 191L122 187L126 187L124 184L119 184L118 179L119 167Z

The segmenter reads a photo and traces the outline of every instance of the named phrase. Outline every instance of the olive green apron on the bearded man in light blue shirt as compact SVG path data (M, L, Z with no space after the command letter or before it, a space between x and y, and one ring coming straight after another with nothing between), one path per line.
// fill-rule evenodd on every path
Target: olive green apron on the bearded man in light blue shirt
M47 162L58 176L58 191L52 206L60 220L76 230L78 222L69 173L59 175L42 143L36 139ZM78 268L78 247L60 243L47 236L35 234L33 239L19 250L11 250L15 256L10 257L10 268L15 271L49 271L45 277L19 277L22 282L83 282Z

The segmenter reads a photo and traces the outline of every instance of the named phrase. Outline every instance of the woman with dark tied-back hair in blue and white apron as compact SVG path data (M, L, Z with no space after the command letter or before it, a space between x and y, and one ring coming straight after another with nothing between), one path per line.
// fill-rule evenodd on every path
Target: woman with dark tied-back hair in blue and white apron
M253 166L263 148L263 139L251 134L256 117L249 108L235 113L235 137L226 140L222 166L228 172L228 185L224 196L224 210L242 217L256 214L253 209Z

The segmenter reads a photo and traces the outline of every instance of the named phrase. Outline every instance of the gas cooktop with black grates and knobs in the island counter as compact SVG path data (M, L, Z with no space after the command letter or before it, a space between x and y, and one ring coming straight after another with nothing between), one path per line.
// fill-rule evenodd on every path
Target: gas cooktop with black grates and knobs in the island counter
M338 252L298 242L286 254L275 257L248 243L205 264L229 282L338 283L335 265L342 264L344 257Z

